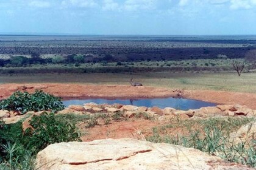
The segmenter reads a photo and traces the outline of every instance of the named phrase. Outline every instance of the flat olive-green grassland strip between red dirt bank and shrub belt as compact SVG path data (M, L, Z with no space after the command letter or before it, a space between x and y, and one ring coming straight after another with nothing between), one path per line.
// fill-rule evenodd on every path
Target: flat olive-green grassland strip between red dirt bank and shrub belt
M0 83L82 83L98 85L129 84L130 78L144 86L166 89L222 90L256 93L256 73L47 73L0 75Z

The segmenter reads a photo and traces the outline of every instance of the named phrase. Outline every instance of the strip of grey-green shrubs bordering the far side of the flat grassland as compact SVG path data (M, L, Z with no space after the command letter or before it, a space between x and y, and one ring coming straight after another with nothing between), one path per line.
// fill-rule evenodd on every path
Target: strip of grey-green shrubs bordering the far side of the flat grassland
M244 71L254 71L254 64L243 59L141 61L99 63L45 63L24 66L2 66L0 74L13 73L146 73L146 72L235 72L233 62L244 63Z

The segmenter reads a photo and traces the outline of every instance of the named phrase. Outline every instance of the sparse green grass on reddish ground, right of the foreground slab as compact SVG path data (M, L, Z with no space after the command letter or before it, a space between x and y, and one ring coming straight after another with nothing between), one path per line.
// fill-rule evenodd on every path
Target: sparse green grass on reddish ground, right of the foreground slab
M153 135L146 137L154 143L171 143L187 148L195 148L217 155L228 161L256 167L256 138L249 142L234 144L229 141L230 133L243 124L255 121L256 118L208 118L179 120L174 118L169 124L153 128ZM182 132L168 134L175 129Z

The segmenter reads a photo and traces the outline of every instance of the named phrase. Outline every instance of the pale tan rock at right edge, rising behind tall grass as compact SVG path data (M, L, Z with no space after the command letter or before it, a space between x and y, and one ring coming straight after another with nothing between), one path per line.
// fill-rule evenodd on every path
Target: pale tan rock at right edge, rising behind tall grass
M238 131L230 134L229 142L238 144L242 142L248 143L252 140L252 137L255 139L256 134L256 121L252 123L247 123L238 129Z

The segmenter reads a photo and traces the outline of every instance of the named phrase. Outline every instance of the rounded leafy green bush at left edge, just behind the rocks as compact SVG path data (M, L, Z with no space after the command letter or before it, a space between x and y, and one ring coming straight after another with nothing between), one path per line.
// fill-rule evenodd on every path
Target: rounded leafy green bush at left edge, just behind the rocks
M34 94L28 92L14 92L9 98L0 102L0 108L9 111L21 112L51 110L57 112L64 109L61 98L36 90Z

